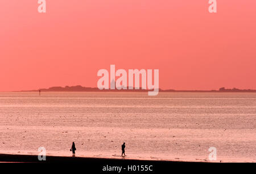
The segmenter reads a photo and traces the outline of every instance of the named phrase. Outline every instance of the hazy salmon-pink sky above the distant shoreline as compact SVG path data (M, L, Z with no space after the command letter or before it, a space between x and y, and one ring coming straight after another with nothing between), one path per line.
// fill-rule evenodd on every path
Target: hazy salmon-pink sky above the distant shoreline
M256 1L0 1L0 91L97 86L97 71L159 69L162 89L256 89Z

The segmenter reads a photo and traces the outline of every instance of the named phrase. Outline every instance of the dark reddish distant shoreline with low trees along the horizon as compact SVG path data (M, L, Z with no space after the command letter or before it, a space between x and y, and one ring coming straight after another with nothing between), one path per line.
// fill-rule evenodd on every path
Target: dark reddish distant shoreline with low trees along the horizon
M53 86L48 89L38 89L38 90L19 90L19 91L13 91L13 92L148 92L150 90L147 89L128 89L129 86L127 86L127 89L98 89L98 88L90 88L90 87L83 87L81 85L77 86ZM256 92L256 89L225 89L220 88L219 90L175 90L175 89L159 89L159 92Z

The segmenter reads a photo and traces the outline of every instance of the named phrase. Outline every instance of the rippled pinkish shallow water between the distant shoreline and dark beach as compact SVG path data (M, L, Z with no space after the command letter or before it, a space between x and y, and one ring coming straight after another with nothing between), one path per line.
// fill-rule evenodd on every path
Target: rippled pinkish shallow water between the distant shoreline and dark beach
M256 93L1 92L0 152L256 162Z

